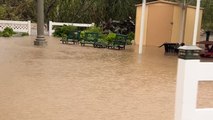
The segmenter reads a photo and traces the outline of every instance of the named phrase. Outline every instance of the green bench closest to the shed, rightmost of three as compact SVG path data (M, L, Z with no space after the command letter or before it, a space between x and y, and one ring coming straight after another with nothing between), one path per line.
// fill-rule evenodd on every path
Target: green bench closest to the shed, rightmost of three
M108 43L108 48L112 49L125 49L126 47L126 41L128 36L123 34L116 34L116 38L111 42Z

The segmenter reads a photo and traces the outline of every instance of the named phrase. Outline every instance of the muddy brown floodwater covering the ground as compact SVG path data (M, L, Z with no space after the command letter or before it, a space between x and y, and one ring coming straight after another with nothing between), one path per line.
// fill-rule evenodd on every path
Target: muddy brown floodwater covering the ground
M173 119L176 56L34 39L0 38L0 120Z

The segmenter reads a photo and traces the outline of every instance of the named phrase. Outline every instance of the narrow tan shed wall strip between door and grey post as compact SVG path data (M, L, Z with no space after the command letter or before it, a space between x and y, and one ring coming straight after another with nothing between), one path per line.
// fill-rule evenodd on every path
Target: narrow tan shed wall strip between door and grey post
M181 8L179 6L174 6L171 42L174 43L179 42L180 24L181 24Z

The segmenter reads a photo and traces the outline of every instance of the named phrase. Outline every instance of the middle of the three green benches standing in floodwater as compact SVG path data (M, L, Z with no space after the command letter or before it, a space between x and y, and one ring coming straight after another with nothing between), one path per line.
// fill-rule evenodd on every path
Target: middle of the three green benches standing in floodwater
M83 40L80 42L81 46L85 46L85 44L95 44L98 42L99 34L96 32L86 32Z

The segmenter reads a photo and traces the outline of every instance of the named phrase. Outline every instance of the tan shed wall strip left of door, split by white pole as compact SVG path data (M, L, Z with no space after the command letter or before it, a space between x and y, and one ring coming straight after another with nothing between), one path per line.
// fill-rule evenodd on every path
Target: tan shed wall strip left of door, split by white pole
M148 16L148 8L149 6L146 6L146 15L145 15L145 28L144 28L144 40L143 45L146 45L146 29L147 29L147 16ZM140 42L140 26L141 26L141 12L142 12L142 6L138 6L136 10L136 24L135 24L135 44L139 45Z

